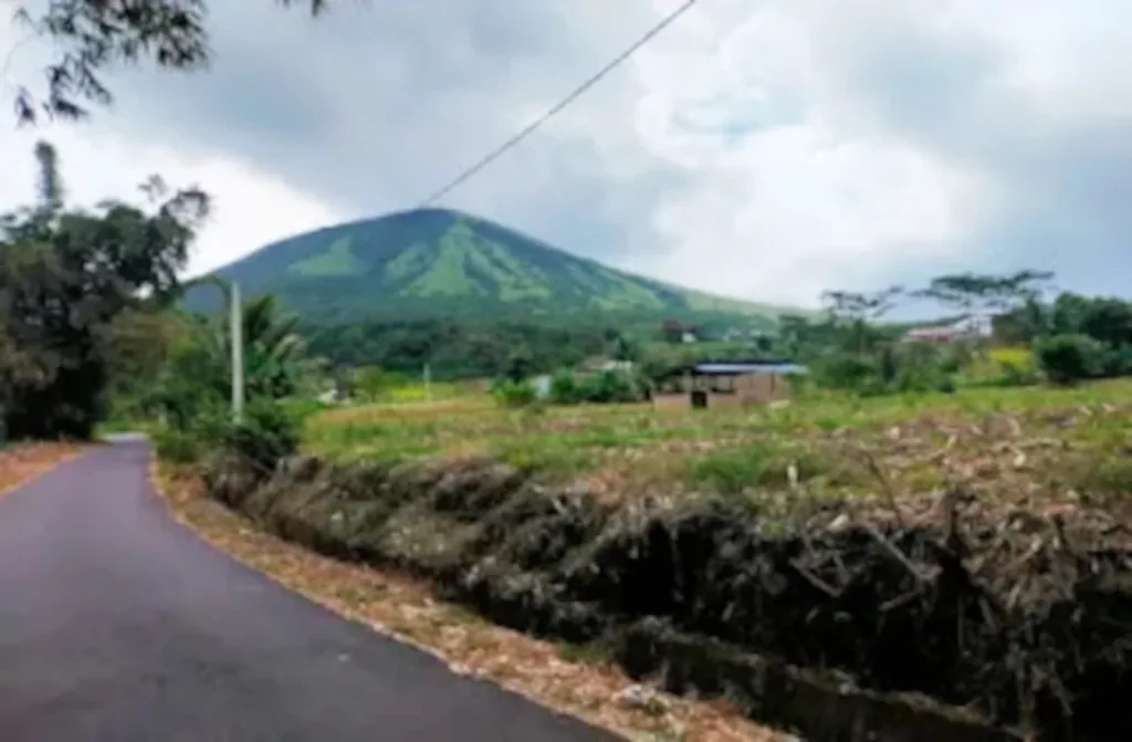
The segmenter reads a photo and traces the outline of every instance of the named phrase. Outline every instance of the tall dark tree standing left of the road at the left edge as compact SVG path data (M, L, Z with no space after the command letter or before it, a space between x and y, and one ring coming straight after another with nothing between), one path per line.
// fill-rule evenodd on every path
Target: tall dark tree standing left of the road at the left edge
M155 180L152 212L67 210L54 151L36 154L38 203L0 218L0 346L15 349L0 353L0 411L11 437L87 437L109 381L106 329L177 296L208 202Z

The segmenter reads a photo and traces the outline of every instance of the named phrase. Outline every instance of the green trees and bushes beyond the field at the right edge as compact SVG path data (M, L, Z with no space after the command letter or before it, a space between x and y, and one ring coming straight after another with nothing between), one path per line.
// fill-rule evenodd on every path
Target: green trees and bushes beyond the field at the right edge
M821 316L781 319L775 346L812 363L815 383L864 393L952 390L972 359L995 346L1028 348L1036 366L1000 369L990 383L1034 383L1038 372L1062 384L1132 375L1132 302L1058 293L1053 278L1029 270L961 273L917 290L827 291ZM883 318L908 299L936 302L951 313L950 322L981 318L989 336L937 346L902 342L910 325Z

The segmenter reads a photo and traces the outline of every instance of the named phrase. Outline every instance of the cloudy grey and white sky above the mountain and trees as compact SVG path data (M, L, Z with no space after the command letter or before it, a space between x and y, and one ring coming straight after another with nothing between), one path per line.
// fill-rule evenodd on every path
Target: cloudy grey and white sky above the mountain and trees
M681 2L216 1L211 71L118 74L82 126L0 121L0 207L48 136L76 201L209 190L207 270L413 207ZM0 25L5 108L43 59L24 36ZM764 301L1024 267L1129 295L1132 2L700 0L444 205Z

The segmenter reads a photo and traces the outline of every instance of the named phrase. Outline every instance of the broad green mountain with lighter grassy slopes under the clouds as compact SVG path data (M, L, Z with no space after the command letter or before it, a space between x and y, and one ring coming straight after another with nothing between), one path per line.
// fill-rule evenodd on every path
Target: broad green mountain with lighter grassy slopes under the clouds
M247 296L275 293L311 319L389 316L697 315L764 324L781 308L617 271L499 224L428 208L350 222L268 245L216 275ZM190 292L196 308L214 290Z

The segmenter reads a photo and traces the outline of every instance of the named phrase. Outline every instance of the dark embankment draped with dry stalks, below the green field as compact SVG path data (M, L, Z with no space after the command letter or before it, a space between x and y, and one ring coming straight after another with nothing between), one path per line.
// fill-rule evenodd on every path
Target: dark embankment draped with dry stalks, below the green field
M1099 510L960 491L789 519L615 505L491 461L303 458L265 476L225 459L206 483L280 536L426 577L506 626L599 642L631 674L807 739L1132 733L1132 539Z

